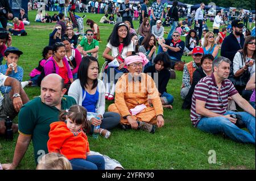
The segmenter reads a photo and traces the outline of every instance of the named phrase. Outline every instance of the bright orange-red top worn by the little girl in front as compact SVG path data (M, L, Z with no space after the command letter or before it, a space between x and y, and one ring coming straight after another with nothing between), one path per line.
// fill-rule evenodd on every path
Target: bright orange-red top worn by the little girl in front
M68 159L86 159L86 153L90 151L87 136L82 129L71 132L63 121L50 124L47 148L49 153L60 153Z

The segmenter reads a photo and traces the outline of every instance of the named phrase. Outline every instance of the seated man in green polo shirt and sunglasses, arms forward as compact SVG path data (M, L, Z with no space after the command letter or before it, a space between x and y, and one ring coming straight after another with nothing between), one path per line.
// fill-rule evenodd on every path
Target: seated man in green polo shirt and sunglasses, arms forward
M86 30L85 34L86 39L83 38L76 49L78 49L83 56L93 56L98 58L99 46L98 41L93 39L93 30Z

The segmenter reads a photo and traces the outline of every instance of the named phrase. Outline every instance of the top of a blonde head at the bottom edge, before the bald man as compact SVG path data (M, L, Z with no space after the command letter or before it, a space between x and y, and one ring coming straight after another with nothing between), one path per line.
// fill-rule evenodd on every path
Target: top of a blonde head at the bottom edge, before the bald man
M72 166L64 155L48 153L40 158L36 170L72 170Z

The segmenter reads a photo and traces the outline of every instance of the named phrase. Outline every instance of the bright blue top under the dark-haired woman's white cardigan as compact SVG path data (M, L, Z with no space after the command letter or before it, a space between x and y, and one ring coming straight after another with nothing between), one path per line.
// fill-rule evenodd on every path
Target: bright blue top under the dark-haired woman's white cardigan
M98 102L98 90L96 90L95 94L89 94L85 89L82 89L82 97L85 99L82 101L82 107L86 108L87 112L96 112L96 105Z

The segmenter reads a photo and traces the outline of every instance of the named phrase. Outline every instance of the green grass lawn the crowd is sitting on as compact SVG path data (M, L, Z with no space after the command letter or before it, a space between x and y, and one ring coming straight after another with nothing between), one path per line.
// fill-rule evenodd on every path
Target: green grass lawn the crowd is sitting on
M53 15L53 12L50 14ZM38 61L42 58L42 50L48 45L49 33L54 25L35 23L35 15L36 11L29 11L31 24L26 26L27 36L13 36L13 46L23 51L18 62L24 69L23 80L30 78L30 71L38 66ZM95 22L99 22L102 16L86 15L86 19L93 19ZM102 40L99 61L102 65L104 58L101 55L113 25L98 24ZM139 22L135 21L134 27L138 26ZM208 27L212 30L212 22L208 21ZM87 28L89 27L85 24L85 30ZM170 27L165 29L167 32L170 31ZM184 40L184 37L181 38ZM191 57L185 56L183 59L186 62L192 60ZM168 83L167 91L175 98L174 110L164 110L163 128L156 129L155 134L115 128L108 140L103 137L94 140L89 136L90 149L117 159L125 169L255 169L255 145L240 144L224 139L221 135L212 135L192 128L190 111L181 110L182 73L178 71L177 78L171 79ZM39 87L26 87L25 91L30 99L40 94ZM106 102L107 106L110 103L112 102ZM15 122L18 122L17 118ZM0 137L0 163L9 163L13 160L17 137L18 133L15 134L13 141L6 141L4 137ZM216 163L208 163L208 157L211 155L208 154L209 150L216 151ZM18 169L35 169L32 143Z

